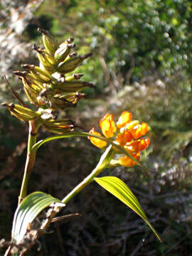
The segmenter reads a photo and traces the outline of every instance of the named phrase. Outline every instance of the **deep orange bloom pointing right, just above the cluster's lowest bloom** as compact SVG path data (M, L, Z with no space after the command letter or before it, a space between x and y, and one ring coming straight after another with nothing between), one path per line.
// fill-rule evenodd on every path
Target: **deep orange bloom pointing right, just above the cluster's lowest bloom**
M147 148L149 146L150 139L137 139L133 142L130 142L129 144L124 146L124 149L127 150L128 152L139 152Z

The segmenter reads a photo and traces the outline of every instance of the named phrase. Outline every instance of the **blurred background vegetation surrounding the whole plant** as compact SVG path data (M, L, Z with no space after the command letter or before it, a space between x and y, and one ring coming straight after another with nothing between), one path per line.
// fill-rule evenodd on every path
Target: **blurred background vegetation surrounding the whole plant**
M1 102L14 102L2 75L23 94L11 71L36 63L37 27L58 41L75 38L80 53L94 55L79 69L96 90L65 113L85 131L106 113L129 110L151 126L144 155L149 171L117 168L161 234L160 244L138 216L97 184L63 210L81 218L60 223L30 255L191 255L192 4L187 0L1 1ZM24 99L25 100L25 99ZM10 239L28 124L0 112L0 237ZM45 136L42 131L41 136ZM95 166L100 149L86 139L51 142L38 151L30 191L63 198ZM111 174L111 171L106 171Z

